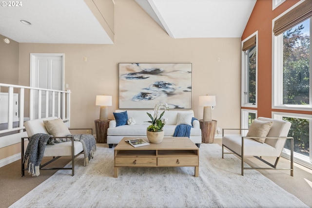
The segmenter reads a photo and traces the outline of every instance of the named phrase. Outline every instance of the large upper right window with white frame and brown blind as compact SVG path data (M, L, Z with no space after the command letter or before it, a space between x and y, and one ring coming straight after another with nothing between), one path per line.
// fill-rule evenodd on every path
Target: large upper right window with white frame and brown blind
M275 109L312 111L312 91L310 90L312 18L310 16L307 19L295 19L292 22L296 23L287 25L290 18L293 15L296 16L295 12L298 12L300 6L304 6L304 9L309 7L303 4L299 4L281 18L273 21L272 105ZM312 14L311 7L310 5ZM292 13L292 16L289 16L289 13Z

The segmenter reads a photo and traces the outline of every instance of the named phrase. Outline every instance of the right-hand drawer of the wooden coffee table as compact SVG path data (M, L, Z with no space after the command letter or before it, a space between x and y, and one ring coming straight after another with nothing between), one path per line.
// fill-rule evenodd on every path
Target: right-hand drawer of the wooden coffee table
M198 157L158 157L158 166L198 166Z

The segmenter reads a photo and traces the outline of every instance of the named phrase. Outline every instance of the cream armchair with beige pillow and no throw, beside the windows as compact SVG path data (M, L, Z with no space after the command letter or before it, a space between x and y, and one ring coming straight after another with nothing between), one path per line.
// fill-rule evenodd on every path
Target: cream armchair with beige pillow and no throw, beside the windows
M291 170L293 176L293 138L287 137L291 128L291 123L284 120L272 118L258 117L251 124L246 136L227 134L233 130L246 129L223 129L222 130L222 158L224 154L235 153L241 158L241 174L244 175L244 170ZM284 149L286 139L291 139L291 168L277 169L277 162ZM224 152L224 148L231 152ZM271 168L245 168L244 159L246 156L254 156L262 162L269 165ZM264 160L262 157L276 157L275 163Z

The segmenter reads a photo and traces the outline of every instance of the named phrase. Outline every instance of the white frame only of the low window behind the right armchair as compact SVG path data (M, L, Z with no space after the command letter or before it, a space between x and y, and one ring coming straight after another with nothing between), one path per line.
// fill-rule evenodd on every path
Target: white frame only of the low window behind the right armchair
M293 160L294 162L305 166L307 168L312 169L312 115L310 114L301 114L301 113L285 113L285 112L272 112L272 118L282 120L283 117L292 117L292 118L301 118L301 119L308 119L309 120L309 146L310 146L310 153L309 156L299 154L297 152L293 152ZM285 149L282 151L281 154L283 157L290 159L291 151Z

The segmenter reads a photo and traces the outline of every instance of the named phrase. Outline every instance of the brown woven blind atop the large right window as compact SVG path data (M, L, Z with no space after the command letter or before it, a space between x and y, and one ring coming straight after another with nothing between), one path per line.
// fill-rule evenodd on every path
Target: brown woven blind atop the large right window
M284 33L310 17L312 17L312 0L305 0L282 17L275 20L273 27L274 36Z

